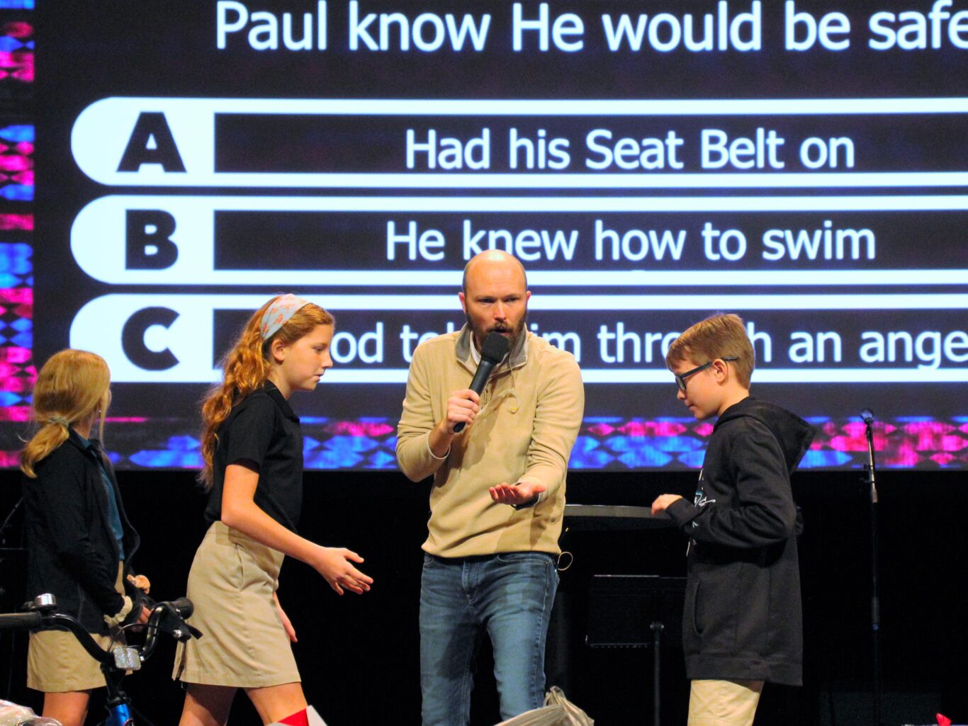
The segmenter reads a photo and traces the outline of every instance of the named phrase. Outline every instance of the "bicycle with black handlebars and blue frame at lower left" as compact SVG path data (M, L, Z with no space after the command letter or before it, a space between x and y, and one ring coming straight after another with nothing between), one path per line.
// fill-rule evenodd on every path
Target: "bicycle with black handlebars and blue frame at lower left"
M121 689L121 681L129 671L137 671L141 663L151 657L158 645L158 634L166 633L177 641L200 638L197 628L185 620L192 616L194 607L187 597L170 602L158 602L151 606L151 615L144 625L133 623L129 627L143 627L146 630L144 643L140 646L114 646L114 639L106 649L102 649L83 625L69 615L57 612L57 600L51 594L38 595L23 606L23 613L0 614L0 631L4 630L68 630L77 642L101 664L105 674L107 695L105 726L135 726L132 717L131 698ZM116 636L115 636L116 637Z

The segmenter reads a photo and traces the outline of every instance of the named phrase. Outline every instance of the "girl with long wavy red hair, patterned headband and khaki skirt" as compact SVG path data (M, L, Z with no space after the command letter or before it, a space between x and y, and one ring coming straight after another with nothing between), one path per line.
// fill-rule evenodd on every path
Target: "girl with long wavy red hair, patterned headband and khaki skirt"
M294 295L249 319L224 361L225 377L202 406L200 479L211 523L189 574L192 623L204 633L179 651L174 677L187 684L181 726L221 726L244 688L263 723L305 724L290 641L276 596L283 557L315 568L339 594L373 580L363 559L296 533L302 503L302 435L288 399L312 391L326 369L333 318Z

